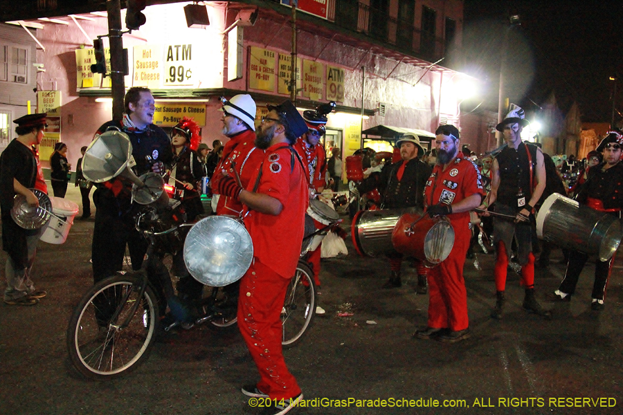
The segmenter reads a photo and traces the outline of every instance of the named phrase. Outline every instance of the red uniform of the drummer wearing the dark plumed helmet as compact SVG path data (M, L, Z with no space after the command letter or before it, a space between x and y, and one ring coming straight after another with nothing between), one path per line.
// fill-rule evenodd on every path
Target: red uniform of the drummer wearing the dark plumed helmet
M309 188L313 189L314 192L318 193L320 187L325 187L325 175L327 174L327 163L325 162L326 154L323 146L318 142L314 147L309 147L307 142L303 137L299 137L294 143L294 149L300 155L300 158L303 159L303 164L305 164L305 168L307 169L307 182L309 183ZM325 228L325 224L320 223L314 219L314 225L316 229ZM320 248L322 244L318 245L318 248L309 252L307 255L307 261L309 261L312 265L312 270L314 271L314 282L317 287L320 287Z

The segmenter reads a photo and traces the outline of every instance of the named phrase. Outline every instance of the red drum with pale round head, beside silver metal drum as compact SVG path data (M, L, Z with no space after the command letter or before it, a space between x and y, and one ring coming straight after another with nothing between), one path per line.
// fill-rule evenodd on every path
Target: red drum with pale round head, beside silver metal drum
M392 244L398 252L415 257L428 266L439 265L454 246L454 228L445 218L420 219L420 214L404 214L392 232ZM419 219L419 221L418 221ZM417 221L410 232L411 224Z

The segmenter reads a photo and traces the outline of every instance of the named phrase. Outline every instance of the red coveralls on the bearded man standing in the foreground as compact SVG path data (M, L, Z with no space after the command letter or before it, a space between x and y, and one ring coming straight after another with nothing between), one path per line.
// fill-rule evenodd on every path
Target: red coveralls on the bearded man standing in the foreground
M253 263L240 280L238 327L260 371L257 387L271 399L294 398L300 388L288 371L281 346L281 309L287 286L294 276L303 241L305 211L309 202L303 167L285 146L266 150L266 156L247 186L278 199L277 216L251 210L244 225L253 240Z

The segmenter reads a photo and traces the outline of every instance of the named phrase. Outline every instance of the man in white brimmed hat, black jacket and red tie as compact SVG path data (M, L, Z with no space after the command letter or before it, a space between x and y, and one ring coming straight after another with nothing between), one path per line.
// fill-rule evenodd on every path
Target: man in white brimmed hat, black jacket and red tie
M424 154L424 148L419 143L419 137L414 133L406 133L396 141L400 149L400 160L383 167L380 175L372 175L359 186L359 193L370 192L374 187L381 194L383 209L396 208L424 208L424 186L426 179L431 176L431 167L419 160ZM396 251L386 252L390 261L390 278L383 284L383 288L402 286L400 275L402 254ZM426 294L426 267L417 266L417 293Z

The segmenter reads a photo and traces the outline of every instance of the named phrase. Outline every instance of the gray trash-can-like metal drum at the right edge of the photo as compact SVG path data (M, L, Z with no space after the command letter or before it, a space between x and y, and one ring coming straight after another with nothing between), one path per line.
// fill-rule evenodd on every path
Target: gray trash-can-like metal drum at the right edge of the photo
M561 248L597 255L608 261L621 242L621 221L613 214L580 205L554 193L536 215L536 234Z

